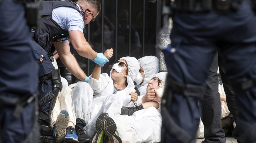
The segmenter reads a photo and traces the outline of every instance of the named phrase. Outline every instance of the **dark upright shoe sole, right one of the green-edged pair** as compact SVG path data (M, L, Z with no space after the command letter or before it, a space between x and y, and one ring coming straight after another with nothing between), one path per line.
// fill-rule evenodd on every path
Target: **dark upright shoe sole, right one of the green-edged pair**
M116 135L116 123L112 118L106 117L104 119L103 132L108 136L111 143L122 143L121 138Z

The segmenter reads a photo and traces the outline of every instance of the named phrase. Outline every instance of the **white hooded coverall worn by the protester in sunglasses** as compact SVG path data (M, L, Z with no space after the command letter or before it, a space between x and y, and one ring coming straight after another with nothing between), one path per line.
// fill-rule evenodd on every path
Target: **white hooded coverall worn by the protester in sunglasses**
M114 85L111 78L111 70L110 76L103 73L100 75L99 80L90 76L89 84L85 82L77 83L71 93L76 118L83 119L86 122L84 129L89 138L92 137L96 130L95 123L98 116L103 112L107 112L109 116L121 114L122 106L126 106L130 102L129 93L135 91L133 80L140 69L138 60L134 57L123 57L121 59L126 60L128 64L128 85L125 89L113 94Z

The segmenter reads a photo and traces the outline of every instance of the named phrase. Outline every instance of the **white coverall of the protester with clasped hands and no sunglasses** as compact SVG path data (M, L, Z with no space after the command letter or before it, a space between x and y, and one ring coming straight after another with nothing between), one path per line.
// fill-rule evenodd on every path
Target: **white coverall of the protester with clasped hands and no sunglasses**
M164 91L166 75L167 72L160 72L153 76L162 80L162 88L157 89L160 94ZM162 116L155 107L136 111L132 116L116 115L111 118L123 143L160 142Z

